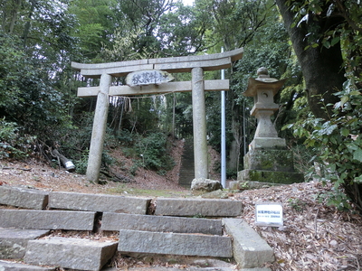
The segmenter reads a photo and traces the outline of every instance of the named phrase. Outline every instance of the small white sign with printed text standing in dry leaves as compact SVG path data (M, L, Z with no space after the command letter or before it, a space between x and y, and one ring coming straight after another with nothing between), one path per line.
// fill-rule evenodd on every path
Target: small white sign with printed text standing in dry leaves
M271 227L283 226L283 213L281 203L255 203L255 225Z

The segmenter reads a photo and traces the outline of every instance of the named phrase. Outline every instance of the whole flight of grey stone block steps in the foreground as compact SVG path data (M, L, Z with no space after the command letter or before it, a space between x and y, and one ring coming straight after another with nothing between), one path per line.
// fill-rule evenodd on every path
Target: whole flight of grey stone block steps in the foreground
M0 186L0 270L61 266L98 271L116 253L229 258L238 270L270 270L260 266L274 260L271 248L246 222L235 218L242 214L241 201L157 198L151 215L151 200ZM117 231L119 239L54 237L51 231L55 229ZM231 271L233 267L182 270ZM178 270L165 268L134 270Z

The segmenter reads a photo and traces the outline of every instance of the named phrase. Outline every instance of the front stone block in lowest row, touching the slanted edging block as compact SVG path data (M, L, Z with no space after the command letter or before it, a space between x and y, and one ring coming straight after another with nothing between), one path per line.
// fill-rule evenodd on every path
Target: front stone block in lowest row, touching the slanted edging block
M121 253L233 257L229 237L130 229L119 230L118 250Z

